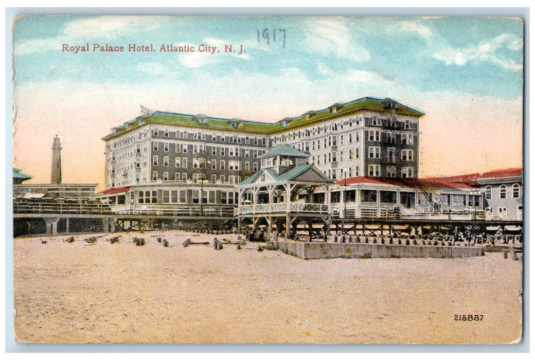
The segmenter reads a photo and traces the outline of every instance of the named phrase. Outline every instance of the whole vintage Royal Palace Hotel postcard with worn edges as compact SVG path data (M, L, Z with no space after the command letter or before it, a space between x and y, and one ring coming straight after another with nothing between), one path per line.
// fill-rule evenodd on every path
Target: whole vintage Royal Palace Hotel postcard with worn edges
M523 19L12 32L17 342L522 341Z

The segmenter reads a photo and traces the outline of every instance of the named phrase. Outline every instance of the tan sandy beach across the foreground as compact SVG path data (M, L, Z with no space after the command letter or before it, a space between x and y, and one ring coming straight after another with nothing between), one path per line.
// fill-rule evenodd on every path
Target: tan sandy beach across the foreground
M182 243L180 231L13 241L17 341L52 343L511 343L522 260L315 259ZM134 236L146 239L135 246ZM169 241L163 247L156 238ZM41 240L48 242L43 244ZM108 240L108 241L106 241ZM458 315L483 315L455 321Z

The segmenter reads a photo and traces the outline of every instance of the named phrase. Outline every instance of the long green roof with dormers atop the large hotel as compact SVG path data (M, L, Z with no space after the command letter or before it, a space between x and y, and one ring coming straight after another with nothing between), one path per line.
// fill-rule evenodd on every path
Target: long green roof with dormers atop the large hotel
M103 140L111 139L112 137L119 135L124 131L128 131L129 129L133 129L137 126L151 122L156 124L177 124L186 127L209 128L214 130L220 129L237 132L243 131L258 134L268 134L278 131L282 128L294 127L296 125L306 124L307 122L315 122L327 117L343 116L348 111L355 111L356 109L362 109L363 111L385 111L386 106L384 103L386 101L395 102L398 106L398 112L403 115L415 117L422 117L425 115L423 111L410 108L409 106L403 105L397 101L394 101L393 99L376 97L363 97L348 103L336 103L325 109L307 111L301 116L295 118L285 118L274 123L242 119L216 118L204 116L203 114L192 115L166 111L155 111L151 114L139 116L135 119L125 122L124 124L114 127L114 133L106 135L103 137ZM337 106L339 110L332 112L331 109L333 106Z

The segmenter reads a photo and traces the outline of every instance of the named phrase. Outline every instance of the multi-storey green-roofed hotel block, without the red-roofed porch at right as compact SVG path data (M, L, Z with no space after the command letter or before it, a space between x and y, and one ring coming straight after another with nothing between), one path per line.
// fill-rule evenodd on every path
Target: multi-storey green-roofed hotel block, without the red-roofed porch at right
M103 138L104 193L119 204L200 204L202 197L233 205L234 185L259 170L259 155L281 144L308 152L309 163L335 181L418 176L424 113L389 98L364 97L274 123L143 112Z

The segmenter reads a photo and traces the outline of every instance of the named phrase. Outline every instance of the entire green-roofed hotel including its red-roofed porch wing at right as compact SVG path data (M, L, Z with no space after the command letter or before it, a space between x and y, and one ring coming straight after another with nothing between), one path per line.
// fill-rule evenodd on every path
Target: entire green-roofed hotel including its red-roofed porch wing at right
M407 183L418 178L419 121L425 114L390 98L336 103L274 123L142 112L103 137L102 197L118 212L196 215L197 206L202 215L232 215L239 203L236 185L260 171L259 157L280 145L308 154L307 162L335 182L332 190L341 194L331 198L335 215L381 217L401 208L417 216L437 207L441 213L484 212L483 194L472 187ZM434 195L441 187L447 191ZM446 197L437 206L441 196ZM358 210L363 207L375 210L364 215Z

